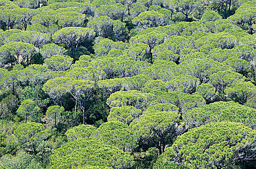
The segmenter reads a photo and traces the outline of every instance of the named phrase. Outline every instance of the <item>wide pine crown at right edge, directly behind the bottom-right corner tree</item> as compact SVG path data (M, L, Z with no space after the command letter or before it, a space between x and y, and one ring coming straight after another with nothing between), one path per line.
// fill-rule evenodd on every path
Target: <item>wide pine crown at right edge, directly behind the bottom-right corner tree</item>
M214 102L185 112L182 119L189 128L199 127L211 122L231 121L256 128L256 109L242 106L233 101Z

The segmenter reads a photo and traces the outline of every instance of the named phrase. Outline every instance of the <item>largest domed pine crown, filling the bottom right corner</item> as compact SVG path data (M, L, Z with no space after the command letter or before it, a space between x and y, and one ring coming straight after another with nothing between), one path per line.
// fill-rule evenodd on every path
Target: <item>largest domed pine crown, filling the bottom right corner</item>
M178 136L153 169L221 169L244 165L256 157L255 141L255 131L241 123L209 123Z

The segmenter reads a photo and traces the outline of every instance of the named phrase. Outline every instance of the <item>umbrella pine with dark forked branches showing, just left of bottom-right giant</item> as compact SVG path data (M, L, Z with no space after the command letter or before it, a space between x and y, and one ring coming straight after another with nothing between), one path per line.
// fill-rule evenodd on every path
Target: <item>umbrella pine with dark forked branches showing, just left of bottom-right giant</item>
M179 134L179 114L175 112L146 112L134 119L130 127L137 132L143 143L150 143L164 153L165 147L172 144Z

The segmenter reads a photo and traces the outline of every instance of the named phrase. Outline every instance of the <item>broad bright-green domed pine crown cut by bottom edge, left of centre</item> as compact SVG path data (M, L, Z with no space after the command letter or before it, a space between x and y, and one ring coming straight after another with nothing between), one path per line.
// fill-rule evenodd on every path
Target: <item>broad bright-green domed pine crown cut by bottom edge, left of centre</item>
M113 145L98 139L71 141L54 151L50 156L51 169L101 166L113 169L128 169L133 166L133 158Z

